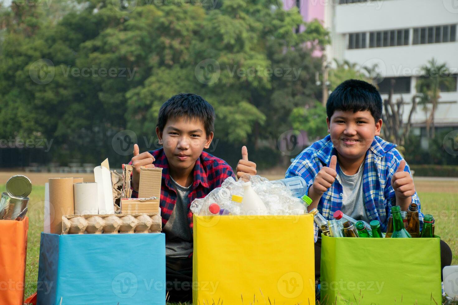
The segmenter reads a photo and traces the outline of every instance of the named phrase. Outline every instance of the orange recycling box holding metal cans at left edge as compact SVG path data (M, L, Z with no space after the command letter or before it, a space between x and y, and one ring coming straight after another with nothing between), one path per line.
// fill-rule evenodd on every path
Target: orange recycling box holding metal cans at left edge
M28 218L0 220L0 304L24 304Z

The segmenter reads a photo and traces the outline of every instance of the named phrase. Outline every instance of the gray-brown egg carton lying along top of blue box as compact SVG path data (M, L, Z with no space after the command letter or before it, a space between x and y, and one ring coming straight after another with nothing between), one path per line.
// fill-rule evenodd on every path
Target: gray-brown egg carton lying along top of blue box
M62 234L160 233L161 229L158 213L62 216Z

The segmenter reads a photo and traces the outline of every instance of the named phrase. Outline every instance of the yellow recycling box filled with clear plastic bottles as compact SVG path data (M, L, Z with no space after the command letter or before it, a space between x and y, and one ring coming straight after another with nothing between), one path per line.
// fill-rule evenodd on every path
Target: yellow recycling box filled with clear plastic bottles
M315 304L312 215L194 215L193 304Z

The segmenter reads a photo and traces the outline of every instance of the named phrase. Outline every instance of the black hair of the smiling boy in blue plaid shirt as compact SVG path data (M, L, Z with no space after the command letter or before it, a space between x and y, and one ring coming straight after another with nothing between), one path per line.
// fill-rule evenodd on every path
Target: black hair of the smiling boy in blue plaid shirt
M382 118L382 96L376 87L364 80L345 80L327 99L326 114L329 119L336 110L369 110L377 123Z

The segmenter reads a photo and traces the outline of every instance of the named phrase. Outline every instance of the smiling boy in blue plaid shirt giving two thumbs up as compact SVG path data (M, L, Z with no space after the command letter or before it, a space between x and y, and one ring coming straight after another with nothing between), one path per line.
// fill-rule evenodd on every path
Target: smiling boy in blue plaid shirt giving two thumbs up
M301 176L312 199L308 210L317 208L326 219L335 211L357 220L380 221L386 231L391 207L406 211L420 199L409 166L396 144L379 137L382 128L382 97L376 87L362 80L346 80L326 103L329 135L303 150L286 171ZM319 278L321 241L315 226L315 267ZM452 252L441 241L442 268L452 262Z

